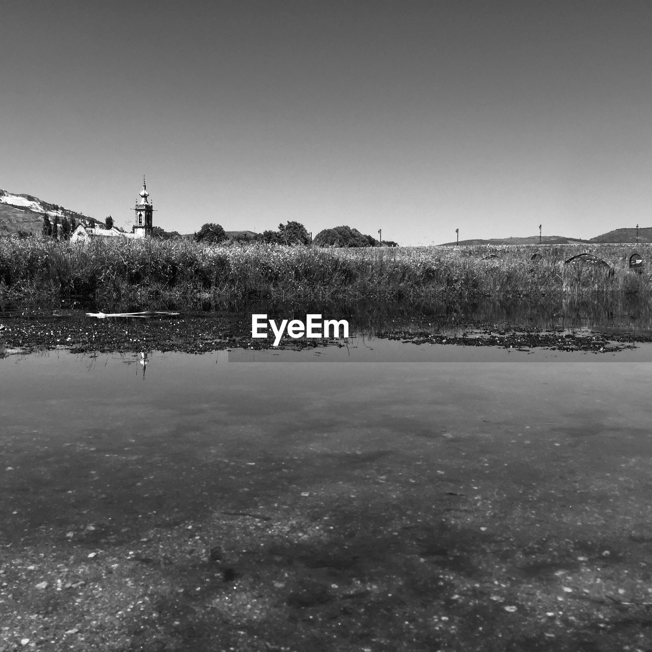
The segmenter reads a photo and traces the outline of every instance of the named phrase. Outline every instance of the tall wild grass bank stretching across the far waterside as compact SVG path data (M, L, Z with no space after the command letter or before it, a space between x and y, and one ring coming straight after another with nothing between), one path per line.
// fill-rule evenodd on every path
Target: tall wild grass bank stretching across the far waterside
M642 274L629 256L644 258ZM591 252L612 266L569 263ZM532 259L535 254L539 254ZM320 249L188 241L0 240L0 297L418 303L650 292L652 245Z

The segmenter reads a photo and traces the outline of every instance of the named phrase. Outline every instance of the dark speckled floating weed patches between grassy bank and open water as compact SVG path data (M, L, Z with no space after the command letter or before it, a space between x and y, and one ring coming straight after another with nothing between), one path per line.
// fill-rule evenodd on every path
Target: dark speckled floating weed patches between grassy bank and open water
M432 317L430 320L432 322ZM271 348L273 342L271 338L252 339L250 315L236 312L97 319L76 311L38 309L5 314L3 321L0 355L7 355L7 351L29 353L53 349L67 349L72 353L208 353L230 348L266 349ZM454 323L443 320L428 325L430 330L420 329L414 323L406 329L397 323L395 329L390 327L364 334L417 345L496 346L517 351L546 348L594 353L614 353L636 348L635 342L652 341L652 334L645 333L599 333L584 329L544 331L509 323L460 323L458 319ZM355 333L355 327L352 331ZM338 340L294 340L284 336L278 348L315 348L336 342Z

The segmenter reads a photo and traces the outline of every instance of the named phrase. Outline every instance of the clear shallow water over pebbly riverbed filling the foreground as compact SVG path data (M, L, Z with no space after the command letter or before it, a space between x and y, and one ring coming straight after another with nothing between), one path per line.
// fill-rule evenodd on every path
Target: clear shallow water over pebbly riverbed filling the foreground
M62 637L83 623L97 640L91 612L120 649L164 649L157 631L175 649L258 650L269 632L269 649L376 649L381 631L404 649L493 650L518 617L521 650L563 608L546 649L589 649L586 631L625 649L621 623L640 624L623 605L649 586L649 363L460 364L475 351L439 349L457 357L156 353L146 383L146 351L2 361L3 625L52 639L31 615L55 604Z

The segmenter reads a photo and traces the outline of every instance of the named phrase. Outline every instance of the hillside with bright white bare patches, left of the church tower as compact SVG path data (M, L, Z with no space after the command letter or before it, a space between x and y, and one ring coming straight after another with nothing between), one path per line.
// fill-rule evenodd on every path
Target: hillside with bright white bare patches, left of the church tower
M31 195L14 195L7 190L0 190L0 235L38 235L43 226L43 216L50 219L54 216L61 219L74 217L77 222L86 224L100 224L98 220L77 211L63 208L57 204L49 203ZM104 222L101 222L104 224Z

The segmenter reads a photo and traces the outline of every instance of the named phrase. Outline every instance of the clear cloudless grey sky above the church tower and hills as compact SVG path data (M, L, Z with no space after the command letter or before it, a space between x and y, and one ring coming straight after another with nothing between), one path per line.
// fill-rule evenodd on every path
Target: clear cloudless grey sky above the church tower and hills
M5 0L0 188L400 244L652 218L649 0Z

